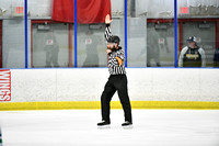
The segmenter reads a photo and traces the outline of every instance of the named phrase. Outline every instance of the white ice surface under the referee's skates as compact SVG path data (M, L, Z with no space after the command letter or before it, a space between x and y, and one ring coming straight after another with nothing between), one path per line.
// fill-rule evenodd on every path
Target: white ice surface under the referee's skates
M2 111L3 146L219 146L219 110L111 111L111 128L97 128L100 110Z

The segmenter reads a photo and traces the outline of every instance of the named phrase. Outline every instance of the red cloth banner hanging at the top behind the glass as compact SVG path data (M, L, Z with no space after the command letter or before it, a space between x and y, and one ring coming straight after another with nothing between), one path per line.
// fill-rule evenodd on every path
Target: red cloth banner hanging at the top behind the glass
M74 0L54 0L53 20L73 23ZM77 0L78 23L104 23L111 14L111 0Z

